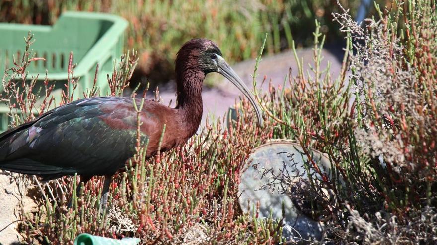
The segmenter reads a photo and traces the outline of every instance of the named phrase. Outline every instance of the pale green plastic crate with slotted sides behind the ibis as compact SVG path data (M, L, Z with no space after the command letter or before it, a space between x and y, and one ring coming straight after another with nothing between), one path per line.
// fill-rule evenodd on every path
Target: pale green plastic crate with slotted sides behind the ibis
M73 64L77 64L74 76L80 77L75 95L92 87L97 64L97 86L101 94L105 94L108 89L106 74L112 73L114 60L118 61L122 55L127 25L121 17L91 12L64 12L53 26L0 23L0 71L13 66L12 55L15 58L22 55L23 38L31 31L35 40L31 49L46 61L31 63L27 69L28 78L40 74L38 80L42 83L47 70L49 80L56 81L55 90L58 91L53 93L60 96L67 81L70 52L73 52ZM0 83L1 91L3 85ZM7 129L8 112L9 108L1 104L0 131Z

